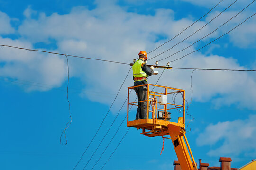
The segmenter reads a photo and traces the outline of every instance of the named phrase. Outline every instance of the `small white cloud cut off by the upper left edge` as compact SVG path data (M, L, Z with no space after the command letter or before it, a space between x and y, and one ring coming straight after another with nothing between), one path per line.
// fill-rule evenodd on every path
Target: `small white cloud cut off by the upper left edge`
M0 34L12 34L15 32L11 26L11 18L0 11Z

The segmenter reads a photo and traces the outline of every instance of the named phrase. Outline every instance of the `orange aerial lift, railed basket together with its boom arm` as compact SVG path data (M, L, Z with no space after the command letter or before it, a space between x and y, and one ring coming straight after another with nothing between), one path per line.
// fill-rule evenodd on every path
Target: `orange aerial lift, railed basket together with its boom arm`
M147 99L140 101L147 102L147 115L146 119L134 120L135 114L134 112L129 113L131 108L129 106L138 106L139 102L130 102L130 95L132 95L130 92L140 86L147 86ZM153 91L154 89L156 90ZM182 99L179 102L182 104L176 104L175 98L177 94L181 94ZM170 99L173 100L170 101ZM175 109L178 112L174 111ZM130 120L129 114L134 115L133 120ZM169 135L171 138L168 139L172 140L181 169L197 170L185 135L185 90L151 84L128 87L127 126L142 129L141 134L148 137L162 136L165 139L168 137L164 136Z

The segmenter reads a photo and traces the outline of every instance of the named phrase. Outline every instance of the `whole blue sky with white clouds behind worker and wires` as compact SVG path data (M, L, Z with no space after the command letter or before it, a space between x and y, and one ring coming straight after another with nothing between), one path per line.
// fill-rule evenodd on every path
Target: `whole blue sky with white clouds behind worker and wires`
M148 61L155 64L179 51L235 16L252 0L238 0L199 32L170 51ZM148 58L171 48L200 29L233 1L223 0L207 16ZM81 55L130 63L141 50L152 51L207 13L212 0L0 0L0 44ZM177 59L218 38L255 12L253 3L202 41L168 59ZM201 51L171 63L184 68L256 69L256 19ZM91 141L118 93L129 66L69 57L69 100L73 122L68 144L59 137L70 120L66 99L67 65L63 56L0 47L0 169L72 170ZM161 71L161 70L159 70ZM190 102L192 70L166 70L158 85L186 90ZM129 78L130 77L130 78ZM159 75L151 76L155 84ZM77 166L82 170L110 127L122 103L131 73L94 142ZM195 70L187 137L196 160L219 166L219 157L231 157L239 168L256 158L256 75L254 72ZM132 113L131 113L132 114ZM135 113L134 113L135 114ZM172 113L177 114L177 112ZM91 169L126 115L123 108L86 169ZM187 122L190 117L186 117ZM101 169L127 131L119 130L101 161ZM64 138L62 138L64 141ZM171 141L148 138L130 129L106 164L106 170L169 170L176 160Z

